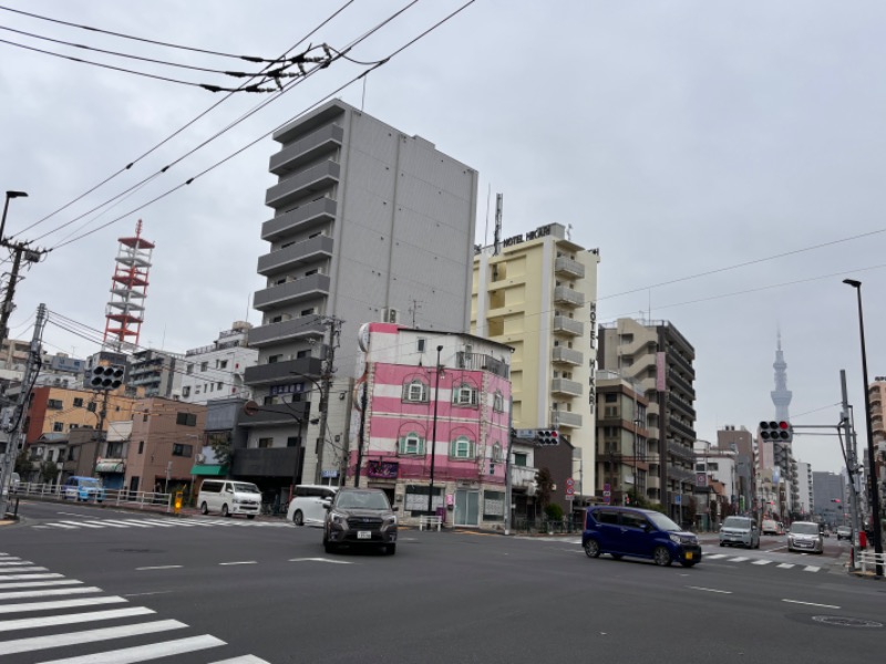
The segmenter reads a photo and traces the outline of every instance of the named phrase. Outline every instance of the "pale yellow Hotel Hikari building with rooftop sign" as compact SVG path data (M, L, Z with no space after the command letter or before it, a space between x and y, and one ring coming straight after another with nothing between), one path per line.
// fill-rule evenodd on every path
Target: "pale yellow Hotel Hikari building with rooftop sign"
M560 224L474 256L471 332L514 347L514 428L557 428L576 448L575 492L594 495L597 249Z

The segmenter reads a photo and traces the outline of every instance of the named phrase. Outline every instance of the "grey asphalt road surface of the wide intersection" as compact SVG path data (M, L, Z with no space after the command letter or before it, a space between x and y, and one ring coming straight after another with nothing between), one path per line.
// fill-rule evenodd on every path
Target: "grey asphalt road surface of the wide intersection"
M24 501L20 513L0 527L4 664L150 662L182 647L200 650L158 661L751 664L886 652L886 584L846 574L847 544L833 538L825 556L787 553L784 538L754 551L711 541L683 569L590 560L575 537L402 530L396 556L329 556L320 530L280 520ZM38 620L55 616L68 618Z

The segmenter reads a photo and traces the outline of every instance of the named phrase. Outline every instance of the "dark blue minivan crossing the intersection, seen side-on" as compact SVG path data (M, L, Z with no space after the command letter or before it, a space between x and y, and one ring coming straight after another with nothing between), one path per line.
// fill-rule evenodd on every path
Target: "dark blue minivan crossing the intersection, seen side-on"
M699 539L661 512L650 509L609 505L589 507L581 546L588 558L609 553L619 560L630 556L648 558L666 567L674 560L683 567L701 562Z

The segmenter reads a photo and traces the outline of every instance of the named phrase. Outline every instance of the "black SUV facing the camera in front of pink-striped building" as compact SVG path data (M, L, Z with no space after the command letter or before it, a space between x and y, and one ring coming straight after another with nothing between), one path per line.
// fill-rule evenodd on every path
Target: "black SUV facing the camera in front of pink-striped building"
M323 506L323 549L327 553L340 544L372 546L396 553L396 515L381 489L342 487Z

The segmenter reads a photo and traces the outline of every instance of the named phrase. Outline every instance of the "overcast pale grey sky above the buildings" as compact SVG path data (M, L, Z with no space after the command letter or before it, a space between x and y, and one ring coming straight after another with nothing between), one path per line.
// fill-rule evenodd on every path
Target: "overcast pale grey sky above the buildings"
M346 4L308 42L343 49L409 2L0 0L56 20L268 59ZM383 60L461 4L420 1L349 55ZM0 25L192 66L261 66L3 10ZM477 242L491 241L492 191L493 200L504 194L505 236L557 221L598 247L598 319L668 320L694 345L699 438L713 440L729 424L755 429L774 416L781 330L795 456L837 471L837 439L802 425L838 422L845 369L866 440L858 309L844 278L864 282L869 376L886 374L885 28L886 3L875 0L477 0L374 69L365 85L336 92L369 69L338 60L285 94L231 95L37 226L225 94L0 42L0 190L30 195L11 201L4 235L53 249L24 272L11 335L30 339L43 302L52 312L50 352L97 351L84 336L101 336L117 238L140 218L156 242L142 345L184 352L234 321L258 323L249 301L264 287L256 261L267 251L259 230L271 215L264 199L277 151L259 138L332 95L478 170ZM0 39L182 81L241 83L9 30ZM110 209L89 212L266 102Z

